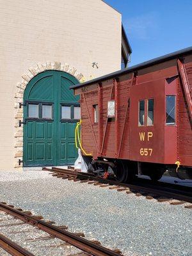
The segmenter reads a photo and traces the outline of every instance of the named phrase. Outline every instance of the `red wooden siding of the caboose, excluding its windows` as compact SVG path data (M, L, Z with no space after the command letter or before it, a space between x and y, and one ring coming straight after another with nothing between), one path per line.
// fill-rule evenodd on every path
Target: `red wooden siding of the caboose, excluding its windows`
M188 79L183 84L178 61ZM191 96L192 47L72 86L81 94L83 147L93 158L108 157L192 166ZM166 125L166 95L175 95L175 125ZM139 100L154 99L154 125L138 127ZM115 118L108 118L108 101L115 100ZM99 122L93 122L93 105ZM147 106L147 105L145 105ZM145 109L145 115L147 111ZM133 122L134 120L134 122ZM145 132L145 141L140 133ZM150 134L147 140L147 134ZM142 146L143 145L143 146ZM140 147L143 147L140 149Z

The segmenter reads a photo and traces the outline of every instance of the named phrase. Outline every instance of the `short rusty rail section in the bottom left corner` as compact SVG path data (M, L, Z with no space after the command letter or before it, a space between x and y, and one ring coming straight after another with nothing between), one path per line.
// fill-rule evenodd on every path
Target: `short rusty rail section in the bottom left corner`
M0 247L13 256L35 256L33 253L28 252L20 245L8 239L8 237L3 236L3 234L0 234Z

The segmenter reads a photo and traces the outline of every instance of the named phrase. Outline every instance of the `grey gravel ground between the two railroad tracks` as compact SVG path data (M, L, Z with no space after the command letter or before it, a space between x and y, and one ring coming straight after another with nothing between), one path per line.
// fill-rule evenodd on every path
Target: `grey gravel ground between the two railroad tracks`
M0 172L1 201L84 232L124 255L192 255L192 214L158 203L52 177L49 172Z

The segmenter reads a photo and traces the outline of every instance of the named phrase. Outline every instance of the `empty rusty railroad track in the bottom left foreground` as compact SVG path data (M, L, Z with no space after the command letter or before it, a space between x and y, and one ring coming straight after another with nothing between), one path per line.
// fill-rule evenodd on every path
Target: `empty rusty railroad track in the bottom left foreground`
M22 211L22 209L15 208L13 205L8 205L5 202L0 203L0 213L5 212L6 214L9 214L12 216L12 219L0 219L0 224L2 221L6 223L4 226L0 225L0 227L16 227L20 225L30 225L33 227L37 227L40 232L44 231L45 233L49 234L49 236L40 236L37 238L38 241L41 240L41 243L44 243L43 241L47 239L60 239L61 241L64 241L64 245L67 244L74 246L75 248L81 250L81 252L71 254L73 256L87 256L87 255L95 255L95 256L120 256L122 255L120 250L109 250L108 248L105 248L104 246L101 246L98 241L89 241L87 239L84 239L83 233L72 233L67 231L67 226L56 226L53 221L45 221L43 220L42 216L35 216L30 211ZM17 219L17 220L15 220ZM21 223L18 221L22 221ZM8 221L8 223L6 222ZM9 223L11 221L11 223ZM15 222L17 221L17 222ZM22 230L14 231L15 234L22 233ZM27 239L25 241L29 241L30 239ZM34 239L31 239L31 241L34 241ZM57 245L56 245L57 246ZM60 244L58 245L60 246ZM3 234L0 234L0 247L6 250L6 252L10 253L11 255L15 256L33 256L32 252L28 252L26 248L22 248L19 244L15 243L15 241L11 241L8 237L4 236ZM64 252L64 251L63 251ZM1 254L1 253L0 253ZM40 254L38 254L40 255ZM44 254L42 254L44 255ZM56 254L50 254L50 255L58 255ZM63 254L61 254L63 255Z

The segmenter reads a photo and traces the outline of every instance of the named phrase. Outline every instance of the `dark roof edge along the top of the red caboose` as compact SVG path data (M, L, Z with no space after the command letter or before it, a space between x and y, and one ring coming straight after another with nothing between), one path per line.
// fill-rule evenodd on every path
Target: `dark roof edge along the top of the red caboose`
M183 55L186 55L186 54L189 54L189 53L192 53L192 47L188 47L188 48L182 49L180 51L172 52L170 54L166 54L166 55L163 55L161 57L145 61L143 63L140 63L138 65L134 65L134 66L129 67L129 68L124 68L123 70L118 70L116 72L113 72L113 73L110 73L108 75L92 79L90 81L86 81L84 83L79 83L79 84L76 84L74 86L70 86L70 89L83 87L83 86L86 86L88 84L99 83L99 82L104 81L106 79L110 79L112 77L117 77L117 76L120 76L120 75L123 75L123 74L127 74L129 72L134 72L136 70L140 70L141 68L150 67L152 65L155 65L157 63L162 63L162 62L167 61L167 60L173 60L174 58L178 58L179 56L183 56Z

